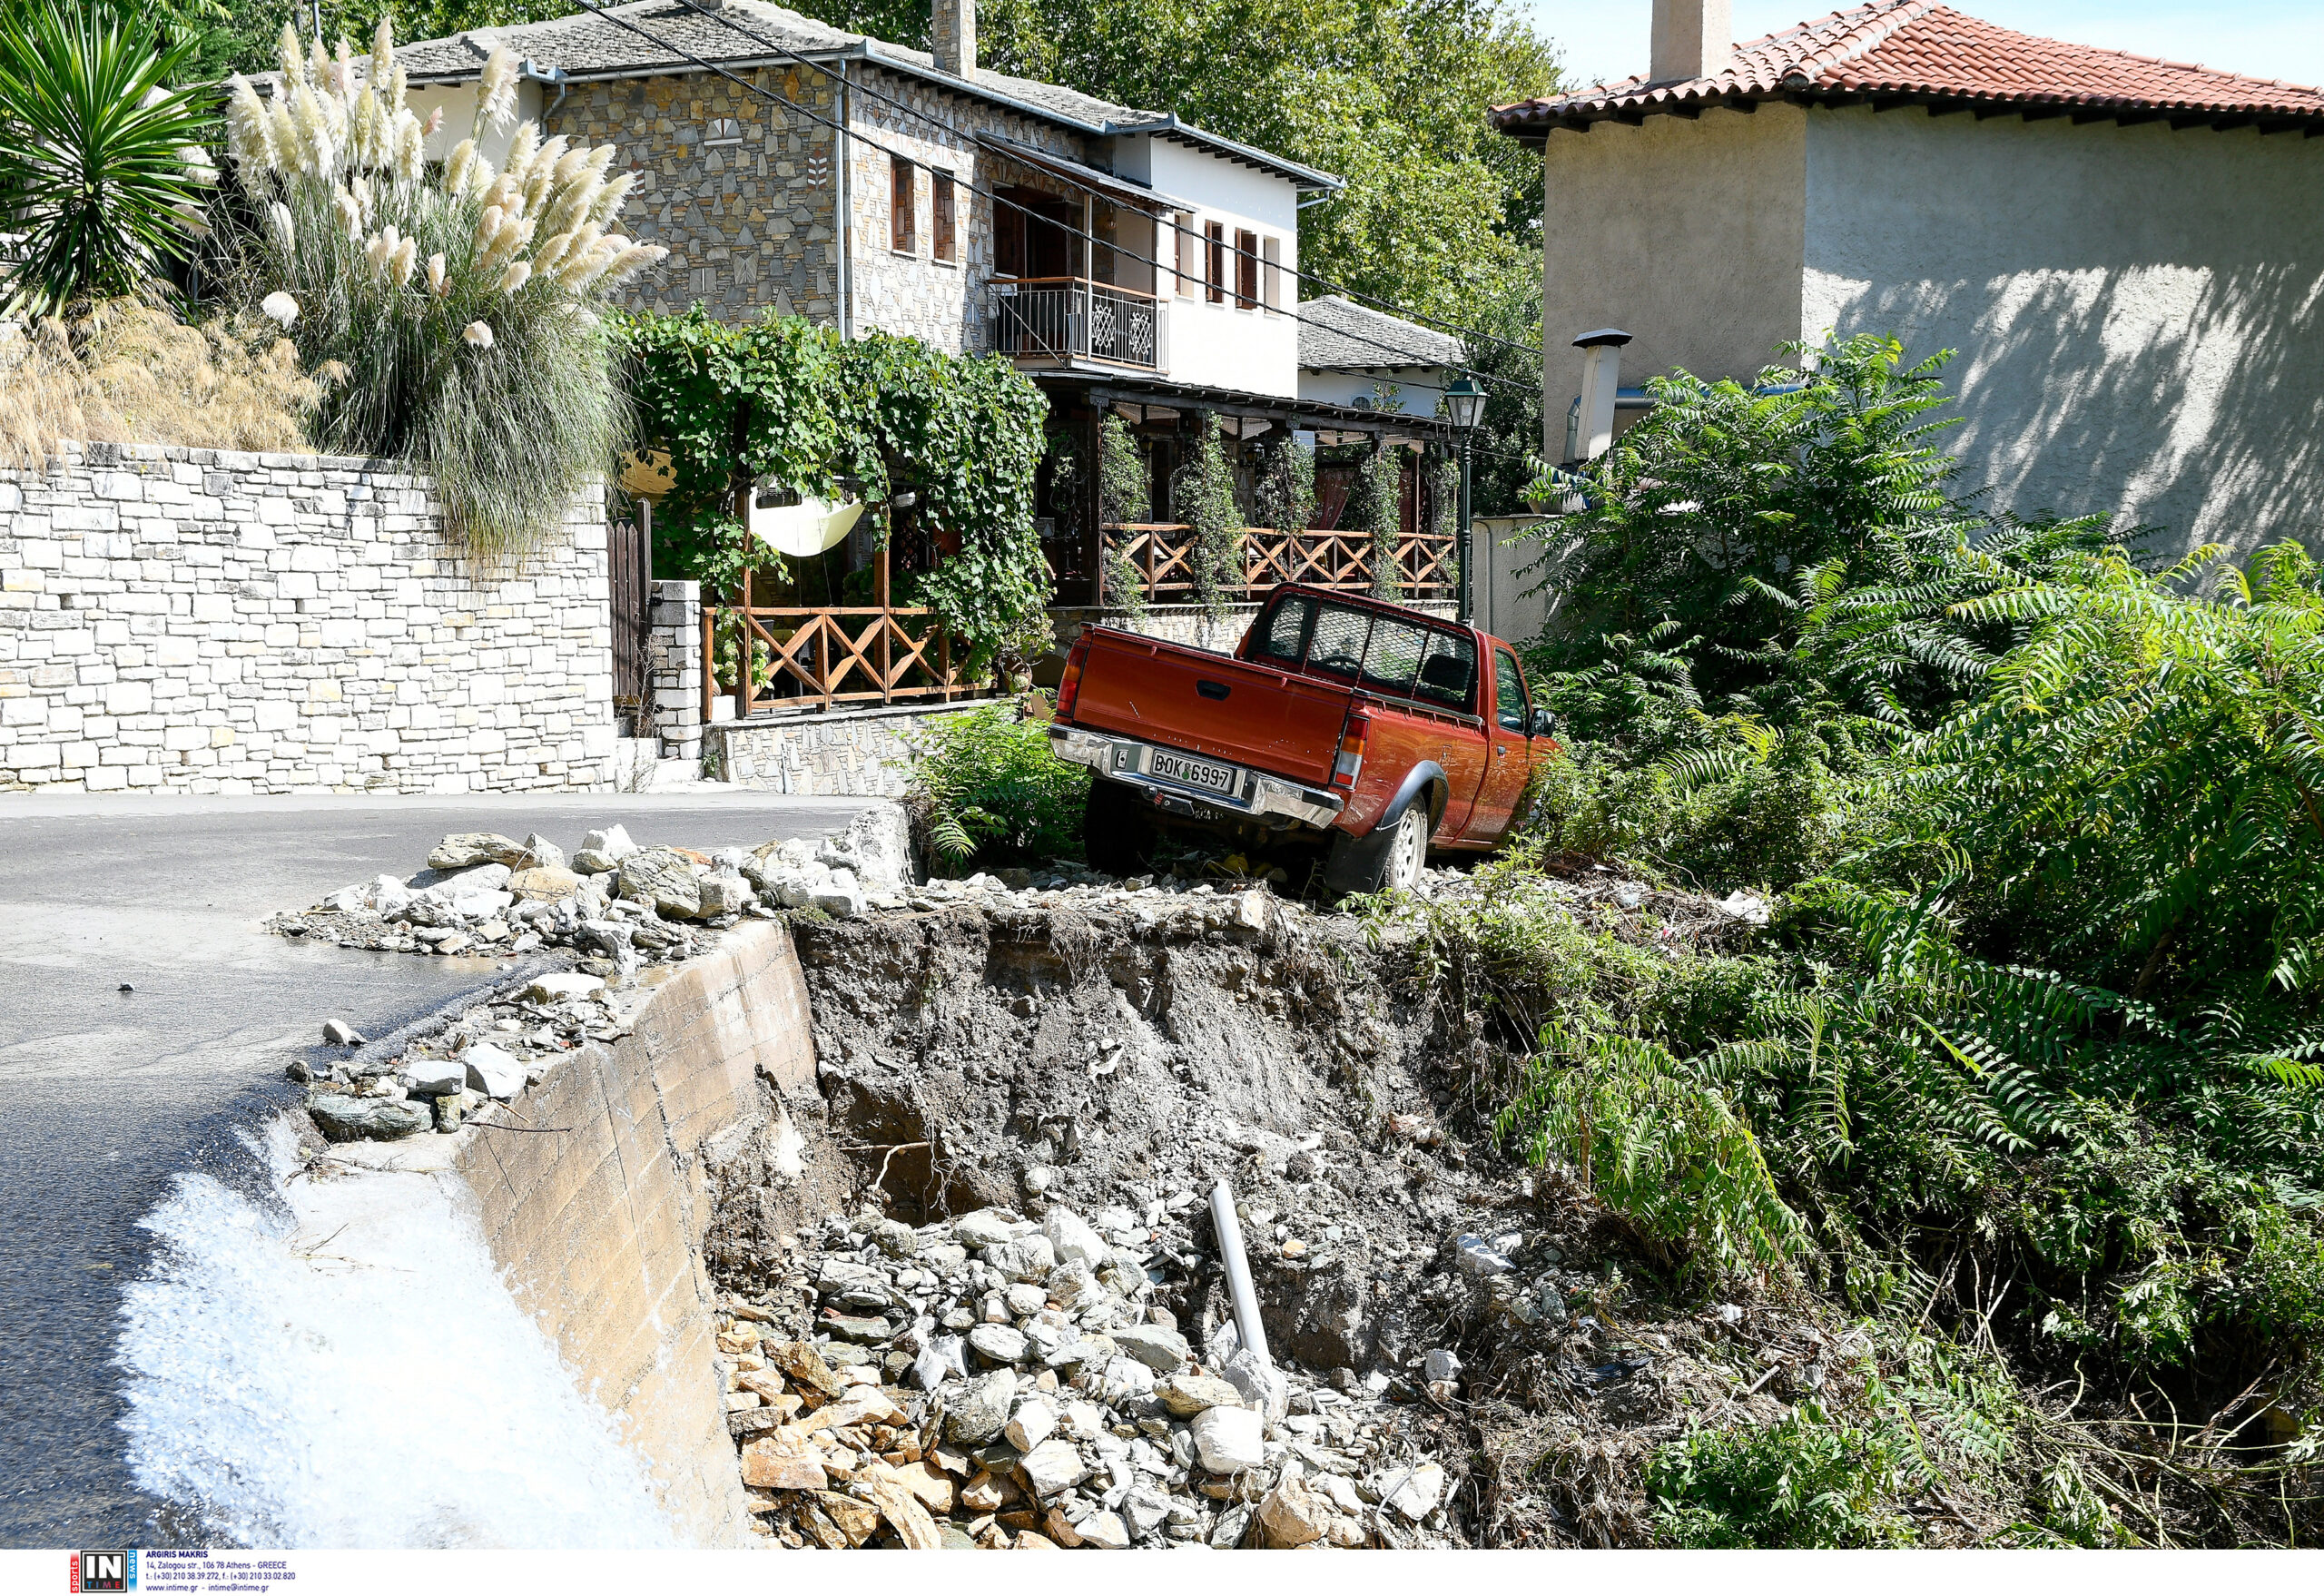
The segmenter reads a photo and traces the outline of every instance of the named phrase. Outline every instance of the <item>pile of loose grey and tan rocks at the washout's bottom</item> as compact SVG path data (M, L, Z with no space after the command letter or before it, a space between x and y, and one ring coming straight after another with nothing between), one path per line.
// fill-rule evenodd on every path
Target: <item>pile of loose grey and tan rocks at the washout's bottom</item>
M1418 1547L1448 1533L1422 1392L1315 1378L1160 1296L1206 1273L1192 1189L1083 1217L878 1208L795 1238L718 1333L755 1524L799 1547ZM1448 1361L1450 1352L1439 1361Z

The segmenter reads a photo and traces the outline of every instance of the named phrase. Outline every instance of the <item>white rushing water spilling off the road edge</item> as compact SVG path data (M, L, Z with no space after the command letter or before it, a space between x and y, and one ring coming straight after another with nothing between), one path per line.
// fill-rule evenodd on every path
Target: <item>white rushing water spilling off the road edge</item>
M449 1178L200 1173L123 1294L137 1482L258 1547L651 1547L674 1531L614 1419L509 1299ZM286 1185L288 1180L288 1185Z

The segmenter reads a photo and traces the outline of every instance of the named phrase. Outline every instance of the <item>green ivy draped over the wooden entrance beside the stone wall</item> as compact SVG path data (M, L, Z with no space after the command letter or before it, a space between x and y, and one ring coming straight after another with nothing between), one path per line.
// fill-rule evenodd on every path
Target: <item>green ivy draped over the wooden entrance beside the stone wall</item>
M888 332L841 339L799 316L725 325L700 304L632 316L632 393L651 448L669 451L655 565L711 592L744 569L781 569L734 518L748 486L881 511L918 495L944 548L920 602L962 646L971 676L1048 648L1048 565L1034 532L1034 472L1048 402L992 355L946 355Z

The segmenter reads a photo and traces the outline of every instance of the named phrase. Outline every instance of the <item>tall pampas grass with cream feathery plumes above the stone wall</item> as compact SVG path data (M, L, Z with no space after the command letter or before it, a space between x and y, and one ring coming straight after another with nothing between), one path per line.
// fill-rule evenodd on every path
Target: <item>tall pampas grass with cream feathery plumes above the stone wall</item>
M493 51L476 132L516 112L516 58ZM370 58L302 51L281 86L232 81L228 149L251 221L230 279L332 376L309 427L342 453L435 479L446 532L481 562L521 558L607 472L625 434L618 342L595 304L658 244L614 232L632 177L611 146L516 128L493 170L462 139L432 170L432 125L404 105L388 23Z

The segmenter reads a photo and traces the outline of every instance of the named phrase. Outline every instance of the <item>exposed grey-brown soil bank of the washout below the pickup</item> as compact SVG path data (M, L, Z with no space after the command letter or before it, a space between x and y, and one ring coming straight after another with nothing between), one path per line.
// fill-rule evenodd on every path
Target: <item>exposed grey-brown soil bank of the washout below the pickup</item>
M1469 1545L1643 1545L1641 1459L1690 1410L1771 1419L1862 1380L1822 1306L1673 1299L1620 1220L1504 1159L1455 1083L1508 1059L1439 1034L1362 922L1264 890L916 901L795 927L818 1090L786 1103L788 1155L723 1173L730 1301L797 1296L816 1231L865 1203L1039 1217L1227 1178L1276 1357L1318 1387L1385 1375ZM1464 1266L1464 1236L1506 1268ZM1232 1317L1213 1264L1169 1289L1195 1345Z

